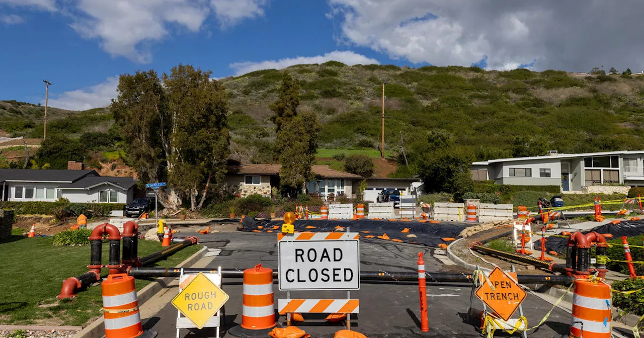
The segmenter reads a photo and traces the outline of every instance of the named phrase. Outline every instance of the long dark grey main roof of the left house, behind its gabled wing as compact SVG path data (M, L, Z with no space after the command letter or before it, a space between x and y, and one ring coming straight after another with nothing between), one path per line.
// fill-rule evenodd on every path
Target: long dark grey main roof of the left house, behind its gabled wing
M98 176L93 170L0 169L0 182L72 183L85 176Z

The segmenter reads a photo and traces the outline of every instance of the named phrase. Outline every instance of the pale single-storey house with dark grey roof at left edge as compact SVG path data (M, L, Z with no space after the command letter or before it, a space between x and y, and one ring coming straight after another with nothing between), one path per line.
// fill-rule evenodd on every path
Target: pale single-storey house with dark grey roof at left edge
M93 170L0 169L3 201L129 203L136 184L131 177L104 177Z

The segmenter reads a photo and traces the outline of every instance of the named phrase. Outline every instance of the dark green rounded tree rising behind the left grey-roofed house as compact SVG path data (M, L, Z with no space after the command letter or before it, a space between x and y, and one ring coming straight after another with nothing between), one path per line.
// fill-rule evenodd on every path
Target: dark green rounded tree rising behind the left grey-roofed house
M32 169L67 169L68 161L82 162L87 156L85 144L77 138L64 135L48 135L36 153L37 161L31 163ZM49 164L49 166L47 166Z

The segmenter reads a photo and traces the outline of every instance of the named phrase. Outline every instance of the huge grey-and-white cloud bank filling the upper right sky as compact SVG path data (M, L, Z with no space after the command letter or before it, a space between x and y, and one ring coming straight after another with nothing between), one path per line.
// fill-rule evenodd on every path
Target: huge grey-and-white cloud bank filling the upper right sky
M393 59L488 68L640 69L641 0L329 0L341 42Z

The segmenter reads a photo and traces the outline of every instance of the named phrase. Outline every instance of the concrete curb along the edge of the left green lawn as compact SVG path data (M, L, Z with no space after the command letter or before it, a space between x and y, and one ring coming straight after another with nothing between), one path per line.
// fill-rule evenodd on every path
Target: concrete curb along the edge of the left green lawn
M194 265L194 263L199 261L199 259L204 257L206 252L208 252L208 248L203 247L201 250L195 252L193 256L190 256L189 258L185 259L185 261L182 261L181 264L177 265L176 267L178 268L191 267L192 265ZM156 292L159 292L164 287L166 287L171 281L173 281L173 279L175 278L159 277L155 279L155 281L153 281L152 283L149 283L144 288L142 288L139 292L137 292L138 306L143 305L148 299L154 296ZM74 335L73 338L101 338L104 335L105 335L105 321L101 316L99 319L93 321L84 329L82 329L81 332L76 333L76 335Z

